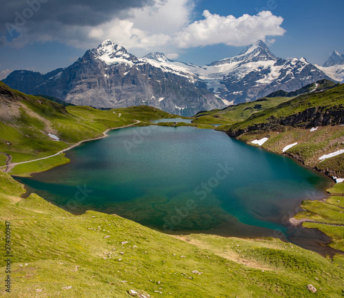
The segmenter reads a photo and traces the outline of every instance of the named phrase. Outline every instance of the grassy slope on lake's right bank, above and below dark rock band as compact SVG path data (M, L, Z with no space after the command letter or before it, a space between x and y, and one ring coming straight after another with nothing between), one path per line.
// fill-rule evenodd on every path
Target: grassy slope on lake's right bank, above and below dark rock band
M319 127L316 131L310 131L310 128L291 127L286 125L268 125L271 118L286 118L296 115L310 107L325 107L332 109L343 107L344 105L344 85L339 85L333 89L316 94L308 94L294 98L286 103L281 103L276 107L257 112L250 118L236 123L234 125L222 125L217 129L228 131L233 134L235 131L248 129L237 138L250 143L252 140L268 137L268 141L261 147L282 153L283 148L287 145L298 144L286 151L288 156L300 160L308 167L323 171L327 175L344 177L344 155L336 156L324 161L319 157L344 149L344 126L327 125ZM266 123L266 129L252 129L255 125ZM301 125L300 125L301 126Z

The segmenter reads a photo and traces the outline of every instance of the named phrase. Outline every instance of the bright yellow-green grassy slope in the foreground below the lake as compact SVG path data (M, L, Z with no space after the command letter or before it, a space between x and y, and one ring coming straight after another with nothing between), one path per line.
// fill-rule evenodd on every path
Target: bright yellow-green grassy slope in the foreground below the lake
M182 241L116 215L75 216L38 195L21 200L23 188L6 173L0 185L1 222L12 227L8 297L130 297L131 289L151 297L312 297L307 284L318 297L344 291L343 257L332 261L275 239Z

